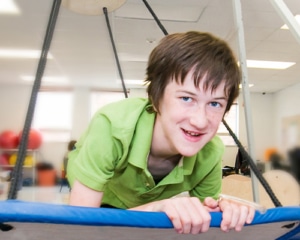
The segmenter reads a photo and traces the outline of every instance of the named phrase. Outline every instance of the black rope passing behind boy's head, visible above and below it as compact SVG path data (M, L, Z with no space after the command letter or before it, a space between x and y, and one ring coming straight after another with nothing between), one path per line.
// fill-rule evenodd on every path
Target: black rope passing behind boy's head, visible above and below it
M166 31L166 29L164 28L164 26L161 24L161 22L159 21L159 19L157 18L157 16L155 15L155 13L153 12L153 10L151 9L150 5L147 3L146 0L143 0L143 2L145 3L146 7L148 8L148 10L150 11L150 13L152 14L152 16L154 17L157 25L159 26L159 28L162 30L162 32L165 35L168 35L168 32ZM223 124L225 125L225 127L227 128L227 130L229 131L230 135L232 136L232 138L234 139L234 141L236 142L238 148L240 149L243 157L246 159L246 161L249 163L250 168L253 170L253 172L255 173L255 175L257 176L257 178L259 179L259 181L261 182L261 184L263 185L263 187L265 188L266 192L269 194L269 197L271 198L271 200L273 201L274 205L276 207L282 206L281 203L279 202L279 200L276 198L274 192L272 191L271 187L269 186L268 182L264 179L264 177L262 176L261 172L259 171L259 169L257 168L256 164L254 163L254 161L252 160L252 158L249 156L249 154L247 153L247 151L244 149L244 147L242 146L242 144L240 143L240 141L237 139L237 137L235 136L234 132L230 129L230 127L228 126L228 124L226 123L226 121L223 119Z

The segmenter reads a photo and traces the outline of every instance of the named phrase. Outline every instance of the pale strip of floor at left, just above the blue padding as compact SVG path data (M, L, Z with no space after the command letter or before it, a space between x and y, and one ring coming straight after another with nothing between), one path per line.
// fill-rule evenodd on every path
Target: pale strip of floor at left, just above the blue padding
M17 199L21 201L30 202L44 202L44 203L54 203L54 204L68 204L69 200L69 188L63 186L60 191L61 186L53 187L22 187L17 193ZM4 188L0 194L0 200L7 199L7 186Z

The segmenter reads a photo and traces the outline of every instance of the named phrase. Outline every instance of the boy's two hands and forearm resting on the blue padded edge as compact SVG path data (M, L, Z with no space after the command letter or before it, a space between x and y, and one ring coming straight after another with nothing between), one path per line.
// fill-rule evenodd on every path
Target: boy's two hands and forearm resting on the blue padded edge
M221 229L240 231L245 223L250 224L254 218L255 208L208 197L203 204L196 197L177 197L141 205L131 210L165 212L178 233L198 234L208 231L211 221L209 212L223 212Z

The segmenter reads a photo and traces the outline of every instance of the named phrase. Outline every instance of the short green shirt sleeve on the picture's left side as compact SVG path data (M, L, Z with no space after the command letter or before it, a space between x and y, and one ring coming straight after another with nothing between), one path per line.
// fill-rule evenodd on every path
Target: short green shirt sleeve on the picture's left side
M122 146L112 137L112 126L105 115L97 114L69 154L68 180L75 179L89 188L103 191L114 173Z

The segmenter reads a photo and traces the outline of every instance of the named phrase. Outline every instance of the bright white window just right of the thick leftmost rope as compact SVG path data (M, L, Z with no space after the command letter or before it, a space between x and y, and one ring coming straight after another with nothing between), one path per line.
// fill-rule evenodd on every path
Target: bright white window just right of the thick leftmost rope
M38 93L32 127L43 133L45 141L68 141L72 127L72 93Z

